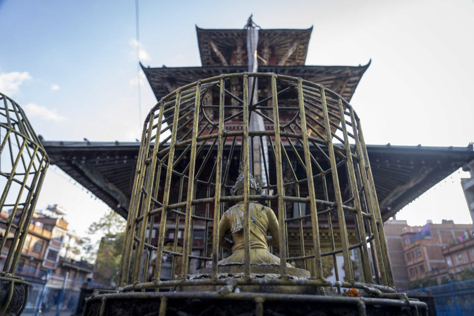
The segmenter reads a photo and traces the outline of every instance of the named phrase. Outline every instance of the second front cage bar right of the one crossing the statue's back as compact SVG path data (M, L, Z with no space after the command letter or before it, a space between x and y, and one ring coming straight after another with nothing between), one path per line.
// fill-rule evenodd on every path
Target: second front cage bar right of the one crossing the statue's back
M298 79L298 106L299 106L300 120L301 120L301 135L303 137L303 150L305 153L306 177L308 179L308 194L310 196L311 224L312 224L312 233L313 233L313 246L315 248L315 262L316 262L315 276L319 279L322 279L323 275L322 275L322 264L321 264L321 245L319 241L319 226L317 222L315 183L313 180L313 167L311 165L311 158L310 158L310 145L308 143L308 134L306 133L307 127L306 127L305 104L304 104L304 99L303 99L302 79Z

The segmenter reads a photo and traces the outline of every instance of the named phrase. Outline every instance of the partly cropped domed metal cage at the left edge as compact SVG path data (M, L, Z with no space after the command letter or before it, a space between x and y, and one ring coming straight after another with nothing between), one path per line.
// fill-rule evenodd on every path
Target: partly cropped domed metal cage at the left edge
M19 300L26 301L28 297L29 283L15 276L15 272L49 159L23 109L1 93L0 141L0 182L3 186L0 196L0 315L3 315L21 313L25 302ZM20 288L25 286L23 290L16 289L15 284ZM22 291L26 291L26 296L21 295Z

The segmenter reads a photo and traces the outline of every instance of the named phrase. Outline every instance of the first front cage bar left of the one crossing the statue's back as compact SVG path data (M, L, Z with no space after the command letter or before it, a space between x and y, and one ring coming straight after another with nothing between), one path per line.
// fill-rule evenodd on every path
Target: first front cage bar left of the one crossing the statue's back
M219 260L219 220L221 207L221 173L222 173L222 151L224 148L224 78L219 81L219 131L217 136L217 159L216 159L216 189L214 196L214 225L212 227L212 279L217 280Z

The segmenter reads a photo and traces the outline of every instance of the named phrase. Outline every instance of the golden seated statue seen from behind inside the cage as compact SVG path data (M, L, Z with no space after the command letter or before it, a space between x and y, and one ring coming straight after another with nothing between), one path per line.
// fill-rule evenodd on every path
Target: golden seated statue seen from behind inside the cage
M261 194L259 184L250 178L250 195ZM237 178L236 184L231 189L231 194L234 196L243 195L243 172ZM280 259L269 251L269 243L273 246L278 246L278 221L275 213L269 207L257 203L256 201L249 201L248 209L250 212L250 264L258 265L278 265ZM244 203L239 201L236 205L229 208L222 216L219 222L219 244L225 248L230 248L230 243L226 242L225 236L227 232L231 232L234 240L232 246L232 254L219 261L219 265L235 265L243 264L245 259L244 254ZM270 233L270 237L267 236ZM291 267L286 263L286 267Z

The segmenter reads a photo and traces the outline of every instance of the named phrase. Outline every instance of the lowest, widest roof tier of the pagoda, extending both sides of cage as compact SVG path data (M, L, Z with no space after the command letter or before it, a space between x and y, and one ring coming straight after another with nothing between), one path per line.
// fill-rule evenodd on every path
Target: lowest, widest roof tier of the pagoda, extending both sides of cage
M43 145L51 164L127 217L140 143L43 141ZM367 152L383 220L474 159L472 145L367 145Z

